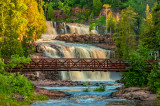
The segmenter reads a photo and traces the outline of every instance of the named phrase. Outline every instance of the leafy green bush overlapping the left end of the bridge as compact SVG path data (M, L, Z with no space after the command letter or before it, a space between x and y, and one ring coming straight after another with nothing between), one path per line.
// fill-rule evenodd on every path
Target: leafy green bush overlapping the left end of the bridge
M7 62L5 68L6 69L13 69L13 68L21 68L23 64L30 64L31 58L30 57L20 57L18 55L12 55L11 59Z

